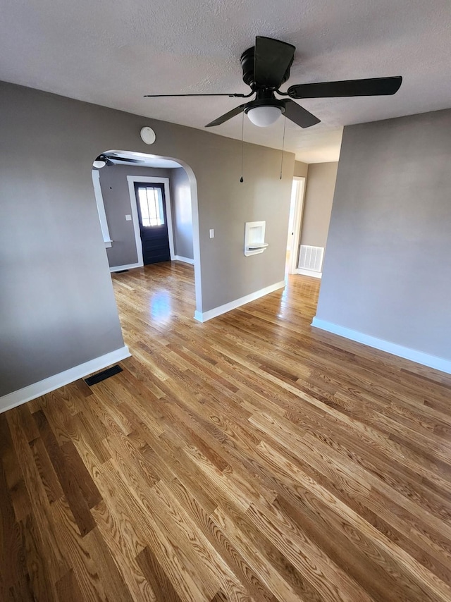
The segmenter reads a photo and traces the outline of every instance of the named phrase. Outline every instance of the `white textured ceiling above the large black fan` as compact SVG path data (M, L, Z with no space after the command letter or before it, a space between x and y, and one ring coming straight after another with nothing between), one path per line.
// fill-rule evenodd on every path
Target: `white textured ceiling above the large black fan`
M240 55L256 35L295 44L288 84L402 75L393 97L308 99L321 119L286 121L285 147L338 159L342 126L451 106L450 0L1 0L0 79L203 128L240 99L143 94L247 92ZM285 89L285 88L284 88ZM299 103L300 104L300 103ZM280 148L283 119L245 123ZM211 131L240 138L241 117Z

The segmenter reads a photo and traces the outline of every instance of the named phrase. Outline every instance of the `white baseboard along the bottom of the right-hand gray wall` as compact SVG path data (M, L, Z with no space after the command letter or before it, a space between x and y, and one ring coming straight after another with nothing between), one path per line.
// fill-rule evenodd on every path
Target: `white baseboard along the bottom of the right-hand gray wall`
M375 336L354 331L352 328L345 328L345 326L339 326L338 324L333 324L333 322L321 320L316 317L314 317L313 321L311 322L311 326L314 326L315 328L321 328L323 331L337 334L338 336L350 338L351 340L357 341L357 343L369 345L369 347L386 351L392 355L404 357L405 360L411 360L417 364L423 364L429 368L435 368L435 370L440 370L442 372L446 372L447 374L451 374L451 361L445 360L443 357L429 355L428 353L424 353L416 349L404 347L403 345L397 345L396 343L391 343L389 340L376 338Z

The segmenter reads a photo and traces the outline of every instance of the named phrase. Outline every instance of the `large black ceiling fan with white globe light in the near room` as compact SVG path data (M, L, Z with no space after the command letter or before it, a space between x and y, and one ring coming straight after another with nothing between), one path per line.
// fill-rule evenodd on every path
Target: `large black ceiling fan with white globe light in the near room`
M290 77L295 49L292 44L280 42L278 39L257 36L255 46L248 48L241 55L242 79L251 89L249 94L145 94L145 97L228 96L249 98L255 94L253 100L240 104L235 109L207 123L205 127L221 125L245 111L250 121L259 127L265 128L283 115L300 125L301 128L309 128L311 125L319 123L319 118L292 99L381 96L395 94L400 88L402 78L390 77L296 84L290 86L287 92L280 92L280 86ZM289 98L278 99L275 94Z

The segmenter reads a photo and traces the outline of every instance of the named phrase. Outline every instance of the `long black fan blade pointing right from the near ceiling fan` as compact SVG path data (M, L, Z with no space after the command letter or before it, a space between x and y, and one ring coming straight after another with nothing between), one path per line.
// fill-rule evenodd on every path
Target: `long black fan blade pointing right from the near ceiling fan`
M400 89L402 77L371 78L368 80L345 80L342 82L320 82L298 84L288 88L291 98L334 98L340 96L383 96L395 94Z

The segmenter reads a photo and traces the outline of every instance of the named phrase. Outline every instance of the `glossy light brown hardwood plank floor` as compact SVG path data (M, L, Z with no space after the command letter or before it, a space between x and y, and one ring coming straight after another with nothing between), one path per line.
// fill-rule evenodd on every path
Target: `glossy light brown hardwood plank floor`
M451 601L451 378L311 278L206 324L190 266L113 283L123 372L0 416L1 601Z

